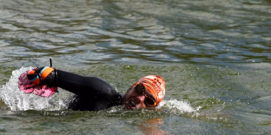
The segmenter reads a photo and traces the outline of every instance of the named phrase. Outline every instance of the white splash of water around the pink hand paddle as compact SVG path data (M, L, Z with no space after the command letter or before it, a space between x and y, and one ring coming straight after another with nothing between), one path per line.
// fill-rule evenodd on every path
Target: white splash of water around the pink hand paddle
M26 70L33 67L21 67L19 70L12 71L12 76L6 85L0 88L0 98L8 105L12 111L18 110L61 110L67 108L65 101L55 94L48 98L40 97L35 94L25 94L18 88L18 78Z

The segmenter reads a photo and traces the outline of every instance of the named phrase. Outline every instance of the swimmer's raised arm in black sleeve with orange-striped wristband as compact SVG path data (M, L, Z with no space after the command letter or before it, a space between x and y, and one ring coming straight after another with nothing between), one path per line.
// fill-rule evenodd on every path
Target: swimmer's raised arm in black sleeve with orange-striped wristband
M39 67L31 70L27 73L27 77L36 85L58 86L80 97L113 98L117 95L112 86L102 79L81 76L51 67Z

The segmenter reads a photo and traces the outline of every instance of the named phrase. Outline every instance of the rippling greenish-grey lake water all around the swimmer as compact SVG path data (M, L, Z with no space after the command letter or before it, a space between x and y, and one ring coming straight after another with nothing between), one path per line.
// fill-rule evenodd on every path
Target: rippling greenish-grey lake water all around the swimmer
M0 0L0 134L270 134L271 1ZM151 110L68 110L71 93L23 94L49 65L124 93L157 74Z

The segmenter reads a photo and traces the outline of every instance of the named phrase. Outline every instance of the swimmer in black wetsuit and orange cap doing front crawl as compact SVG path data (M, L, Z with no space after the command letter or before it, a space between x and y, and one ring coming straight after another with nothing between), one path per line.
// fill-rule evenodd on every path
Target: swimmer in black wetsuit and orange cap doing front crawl
M99 111L124 105L128 109L156 107L164 98L165 82L157 75L142 77L123 95L110 84L92 76L81 76L52 67L37 67L28 71L27 79L35 85L60 87L75 94L68 109Z

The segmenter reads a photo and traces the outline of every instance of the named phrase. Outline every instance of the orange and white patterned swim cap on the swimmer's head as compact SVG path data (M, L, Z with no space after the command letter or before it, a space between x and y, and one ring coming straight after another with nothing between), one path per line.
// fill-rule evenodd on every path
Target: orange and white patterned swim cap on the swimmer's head
M139 83L143 83L148 90L154 95L156 105L158 105L165 96L166 84L161 76L150 75L139 79Z

